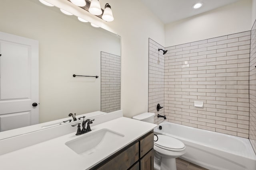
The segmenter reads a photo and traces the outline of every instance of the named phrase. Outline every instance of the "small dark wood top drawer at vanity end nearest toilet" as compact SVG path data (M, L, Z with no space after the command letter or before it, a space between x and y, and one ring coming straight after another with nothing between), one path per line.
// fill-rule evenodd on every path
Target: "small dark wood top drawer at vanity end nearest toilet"
M154 132L140 139L140 158L154 147Z

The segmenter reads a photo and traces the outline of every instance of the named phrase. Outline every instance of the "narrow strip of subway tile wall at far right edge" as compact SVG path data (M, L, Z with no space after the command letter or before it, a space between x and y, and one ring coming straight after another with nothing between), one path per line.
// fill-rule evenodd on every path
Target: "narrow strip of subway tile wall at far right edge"
M256 22L251 30L251 50L250 50L250 125L249 139L256 153Z

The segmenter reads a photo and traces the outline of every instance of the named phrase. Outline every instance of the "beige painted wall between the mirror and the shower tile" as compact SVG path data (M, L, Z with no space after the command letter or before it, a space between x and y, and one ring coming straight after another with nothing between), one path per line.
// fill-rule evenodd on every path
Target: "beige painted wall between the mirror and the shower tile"
M58 6L61 3L61 0L46 1ZM102 0L100 3L111 5L114 21L104 22L91 14L86 16L84 12L83 16L122 37L121 109L124 110L124 116L132 117L147 112L148 38L164 44L164 24L138 0ZM64 8L65 4L62 5ZM82 16L79 12L77 15Z

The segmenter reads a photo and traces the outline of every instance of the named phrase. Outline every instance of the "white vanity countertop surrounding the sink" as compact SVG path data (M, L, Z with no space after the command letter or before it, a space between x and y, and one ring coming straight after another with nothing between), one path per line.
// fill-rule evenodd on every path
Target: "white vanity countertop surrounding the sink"
M90 169L110 155L116 153L134 140L142 137L157 125L146 123L126 117L120 117L101 123L91 124L92 131L85 133L87 135L100 129L110 129L121 133L124 137L116 143L114 150L108 150L108 146L102 154L82 156L67 147L65 143L73 139L82 137L76 136L76 131L49 141L38 143L14 152L0 156L0 167L3 170L85 170ZM90 139L88 139L90 140ZM17 141L18 143L19 141Z

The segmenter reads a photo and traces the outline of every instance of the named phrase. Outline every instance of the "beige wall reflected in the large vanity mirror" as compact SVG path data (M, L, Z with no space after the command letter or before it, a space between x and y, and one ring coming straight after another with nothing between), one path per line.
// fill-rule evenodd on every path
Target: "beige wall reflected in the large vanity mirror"
M1 0L0 31L39 42L39 123L101 110L102 52L120 56L120 36L38 0Z

